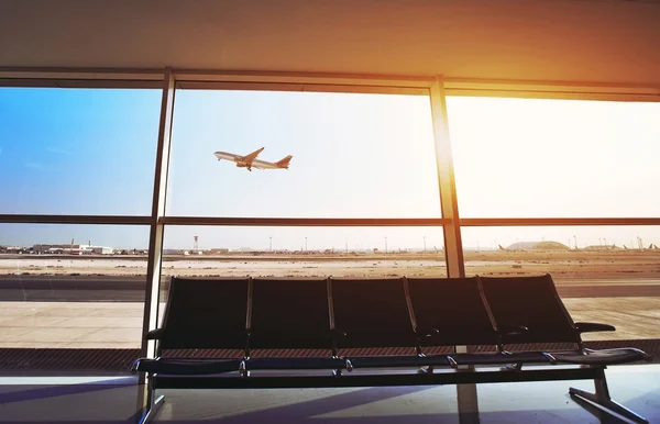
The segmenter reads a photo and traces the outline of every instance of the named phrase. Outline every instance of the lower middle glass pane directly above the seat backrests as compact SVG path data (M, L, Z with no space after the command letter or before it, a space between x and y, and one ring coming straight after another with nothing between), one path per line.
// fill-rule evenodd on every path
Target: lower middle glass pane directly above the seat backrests
M173 276L447 277L439 227L168 225L164 246L162 306Z

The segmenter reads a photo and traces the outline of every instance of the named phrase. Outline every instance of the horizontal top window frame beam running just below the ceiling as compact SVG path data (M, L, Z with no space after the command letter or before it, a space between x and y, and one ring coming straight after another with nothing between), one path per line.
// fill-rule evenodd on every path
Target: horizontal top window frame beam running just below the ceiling
M205 83L289 85L297 91L304 86L324 86L329 91L346 88L351 92L364 87L367 92L427 90L438 78L419 75L392 76L380 74L246 71L220 69L176 69L180 83L201 87ZM122 87L151 88L163 80L163 72L152 68L84 68L84 67L1 67L0 87ZM517 80L452 77L442 79L450 96L520 97L539 99L581 99L660 102L660 87L648 85L595 83L585 81ZM209 86L209 87L211 87ZM220 87L218 86L218 87ZM255 86L255 87L256 87ZM314 88L312 88L314 89ZM394 90L394 91L393 91ZM417 92L417 91L416 91Z

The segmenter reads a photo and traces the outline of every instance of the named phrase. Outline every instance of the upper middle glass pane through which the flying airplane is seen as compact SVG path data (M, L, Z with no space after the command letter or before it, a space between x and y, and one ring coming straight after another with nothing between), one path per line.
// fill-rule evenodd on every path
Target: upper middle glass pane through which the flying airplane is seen
M178 90L169 169L168 215L440 216L428 96Z

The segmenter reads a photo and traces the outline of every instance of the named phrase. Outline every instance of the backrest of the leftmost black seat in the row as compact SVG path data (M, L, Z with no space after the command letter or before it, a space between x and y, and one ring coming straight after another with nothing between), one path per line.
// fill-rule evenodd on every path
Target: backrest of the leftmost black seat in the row
M164 349L243 349L248 278L177 278L169 283L163 316Z

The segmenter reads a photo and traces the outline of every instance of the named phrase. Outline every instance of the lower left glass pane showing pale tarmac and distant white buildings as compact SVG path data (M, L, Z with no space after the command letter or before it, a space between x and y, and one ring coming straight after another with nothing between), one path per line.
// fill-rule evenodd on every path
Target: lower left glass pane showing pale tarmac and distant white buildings
M148 227L0 224L0 348L139 348Z

